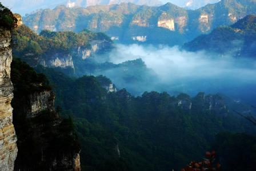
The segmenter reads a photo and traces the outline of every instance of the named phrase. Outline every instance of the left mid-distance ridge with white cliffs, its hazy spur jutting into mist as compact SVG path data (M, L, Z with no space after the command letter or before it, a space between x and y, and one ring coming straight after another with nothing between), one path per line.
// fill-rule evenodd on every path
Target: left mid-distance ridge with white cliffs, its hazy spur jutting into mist
M37 35L25 25L12 31L13 54L31 66L42 65L75 77L105 75L118 87L127 87L139 95L146 82L156 82L157 75L141 60L121 64L104 62L107 53L114 48L112 40L102 33L83 30L79 33L42 31ZM99 56L99 57L97 57ZM103 62L98 62L102 60ZM150 91L155 85L148 87Z

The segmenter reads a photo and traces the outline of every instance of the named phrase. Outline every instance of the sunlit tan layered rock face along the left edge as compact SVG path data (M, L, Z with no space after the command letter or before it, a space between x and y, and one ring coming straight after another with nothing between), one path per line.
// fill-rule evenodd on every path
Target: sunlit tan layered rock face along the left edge
M16 135L13 126L13 84L10 79L10 31L0 28L0 170L13 170L17 156Z

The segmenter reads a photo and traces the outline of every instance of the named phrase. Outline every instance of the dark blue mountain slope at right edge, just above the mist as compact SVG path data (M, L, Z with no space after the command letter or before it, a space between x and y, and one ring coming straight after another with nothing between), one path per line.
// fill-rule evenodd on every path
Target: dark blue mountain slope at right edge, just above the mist
M229 27L215 28L183 47L188 51L206 51L219 55L249 56L256 54L256 15L247 15Z

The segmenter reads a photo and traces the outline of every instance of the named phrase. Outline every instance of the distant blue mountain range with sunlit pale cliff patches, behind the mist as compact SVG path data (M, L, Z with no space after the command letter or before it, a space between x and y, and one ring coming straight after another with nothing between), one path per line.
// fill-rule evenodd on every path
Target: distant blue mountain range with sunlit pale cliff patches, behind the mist
M58 6L27 15L24 22L37 32L105 32L121 43L169 44L174 46L206 34L218 26L231 25L248 14L255 14L255 1L222 0L198 10L186 10L171 3L159 7L132 3L91 6Z

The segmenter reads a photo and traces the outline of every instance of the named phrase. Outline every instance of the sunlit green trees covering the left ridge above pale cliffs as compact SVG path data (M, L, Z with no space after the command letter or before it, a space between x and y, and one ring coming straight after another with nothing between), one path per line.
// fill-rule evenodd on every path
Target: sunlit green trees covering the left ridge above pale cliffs
M36 34L29 27L22 25L12 31L13 54L19 56L23 61L31 66L36 66L42 60L49 60L54 54L71 54L75 48L91 48L91 41L105 40L109 42L111 48L111 39L105 34L94 33L83 30L79 33L71 31L51 32L43 30L40 35Z

